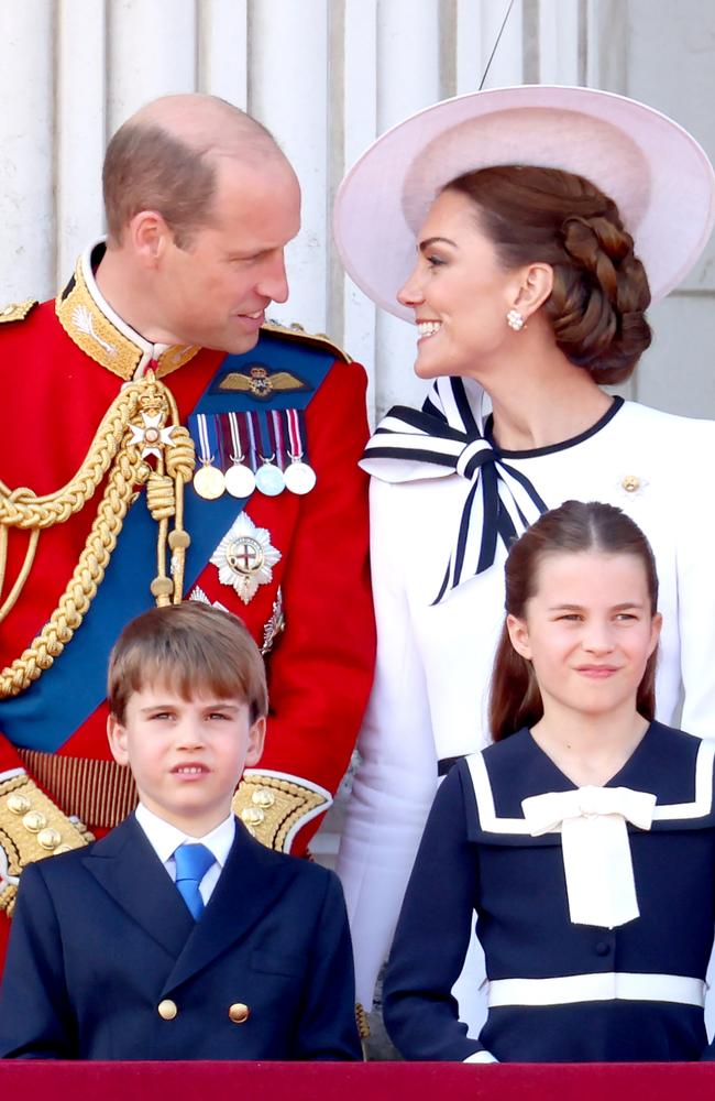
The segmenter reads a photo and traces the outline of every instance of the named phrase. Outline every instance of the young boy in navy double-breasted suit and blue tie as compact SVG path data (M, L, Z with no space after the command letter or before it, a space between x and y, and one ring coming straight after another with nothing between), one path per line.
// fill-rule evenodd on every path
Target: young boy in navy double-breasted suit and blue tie
M108 696L139 806L24 871L0 1056L360 1058L337 877L264 848L231 813L267 712L243 624L199 603L140 615L112 652Z

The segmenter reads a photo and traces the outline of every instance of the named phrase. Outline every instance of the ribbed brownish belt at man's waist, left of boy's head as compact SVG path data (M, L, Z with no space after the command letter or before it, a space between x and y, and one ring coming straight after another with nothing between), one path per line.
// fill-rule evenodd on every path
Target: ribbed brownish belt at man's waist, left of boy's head
M59 756L18 750L23 765L67 815L90 829L112 829L136 806L136 785L129 768L116 761Z

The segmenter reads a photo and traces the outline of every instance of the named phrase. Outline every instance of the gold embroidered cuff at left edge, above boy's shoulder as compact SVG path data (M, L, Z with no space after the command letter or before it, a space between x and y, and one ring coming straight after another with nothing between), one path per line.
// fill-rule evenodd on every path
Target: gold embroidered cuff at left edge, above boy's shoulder
M12 917L26 864L81 849L94 840L82 822L63 814L25 773L0 783L0 849L7 860L7 870L0 868L0 912Z

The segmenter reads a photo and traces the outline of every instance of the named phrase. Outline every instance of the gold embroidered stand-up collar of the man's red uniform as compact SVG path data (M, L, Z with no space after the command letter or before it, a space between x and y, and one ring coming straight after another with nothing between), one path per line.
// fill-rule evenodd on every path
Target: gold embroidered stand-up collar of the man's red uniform
M195 345L153 345L135 333L105 302L95 282L89 248L55 301L55 313L70 340L124 382L141 378L152 362L157 378L184 367L200 351Z

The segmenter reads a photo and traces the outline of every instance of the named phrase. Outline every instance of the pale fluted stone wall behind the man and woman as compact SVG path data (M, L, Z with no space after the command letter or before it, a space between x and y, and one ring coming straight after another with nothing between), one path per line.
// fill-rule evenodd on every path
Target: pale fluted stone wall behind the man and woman
M346 281L330 244L344 168L387 127L479 87L509 0L1 0L0 304L54 294L102 229L107 138L163 92L224 96L268 126L304 186L283 319L367 367L371 405L417 399L414 331ZM715 155L712 0L514 0L486 87L587 84L641 98ZM713 248L653 309L631 392L715 416ZM678 372L675 374L675 372ZM674 380L676 382L674 383Z

